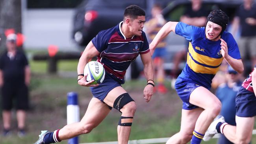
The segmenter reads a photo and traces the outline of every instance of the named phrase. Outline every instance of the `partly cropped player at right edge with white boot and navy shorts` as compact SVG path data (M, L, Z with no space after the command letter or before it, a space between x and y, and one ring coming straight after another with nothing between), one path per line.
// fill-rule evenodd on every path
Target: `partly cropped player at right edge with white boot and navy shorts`
M213 121L205 133L204 141L215 134L222 133L234 144L249 144L256 116L256 66L243 81L236 95L236 126L232 126L221 117Z

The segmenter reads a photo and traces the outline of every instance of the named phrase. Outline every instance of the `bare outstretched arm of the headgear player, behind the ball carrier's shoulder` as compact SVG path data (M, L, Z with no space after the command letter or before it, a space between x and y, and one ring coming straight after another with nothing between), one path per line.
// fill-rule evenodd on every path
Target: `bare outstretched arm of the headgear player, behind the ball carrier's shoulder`
M175 33L175 28L178 22L167 22L161 30L156 34L156 37L149 44L150 54L154 53L154 50L159 42L161 42L171 31Z

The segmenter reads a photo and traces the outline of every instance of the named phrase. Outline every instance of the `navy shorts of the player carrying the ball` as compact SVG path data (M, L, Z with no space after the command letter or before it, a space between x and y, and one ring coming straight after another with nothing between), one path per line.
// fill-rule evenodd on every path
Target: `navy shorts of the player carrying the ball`
M121 84L115 81L115 79L111 78L108 73L106 73L104 81L100 83L98 87L91 87L91 93L93 94L93 97L98 98L101 102L103 102L108 92L119 86L121 86ZM113 107L113 105L110 106Z

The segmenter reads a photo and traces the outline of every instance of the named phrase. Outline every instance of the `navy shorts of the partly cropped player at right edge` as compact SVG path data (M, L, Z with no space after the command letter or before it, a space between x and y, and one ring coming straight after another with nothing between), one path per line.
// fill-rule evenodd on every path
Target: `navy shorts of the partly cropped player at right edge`
M236 95L236 116L256 116L256 97L253 92L241 87Z

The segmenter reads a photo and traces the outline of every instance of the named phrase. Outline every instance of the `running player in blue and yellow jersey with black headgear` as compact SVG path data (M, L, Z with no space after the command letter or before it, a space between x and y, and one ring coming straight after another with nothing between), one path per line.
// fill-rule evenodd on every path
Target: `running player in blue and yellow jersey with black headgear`
M205 27L182 22L167 22L150 43L150 52L171 31L189 41L187 63L178 76L175 89L183 101L180 132L167 144L200 144L212 120L221 110L221 102L210 92L211 80L226 60L237 72L243 63L233 36L226 32L228 16L221 10L211 11Z

